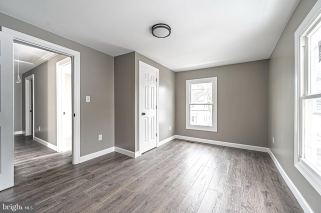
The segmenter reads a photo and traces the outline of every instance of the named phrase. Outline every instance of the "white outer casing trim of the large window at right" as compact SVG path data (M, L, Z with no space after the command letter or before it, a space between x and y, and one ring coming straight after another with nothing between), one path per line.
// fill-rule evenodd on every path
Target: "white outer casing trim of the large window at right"
M305 159L300 157L301 150L301 95L304 83L305 36L321 20L321 0L318 0L294 33L294 166L321 195L321 172L313 169ZM303 64L302 64L303 63ZM315 96L315 95L314 95ZM318 96L318 95L316 95Z

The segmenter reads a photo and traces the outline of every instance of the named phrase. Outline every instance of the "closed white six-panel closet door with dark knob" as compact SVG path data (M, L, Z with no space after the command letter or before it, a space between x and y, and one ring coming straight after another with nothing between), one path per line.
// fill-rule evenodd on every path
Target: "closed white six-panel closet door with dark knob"
M157 145L157 74L158 69L139 61L140 71L140 153Z

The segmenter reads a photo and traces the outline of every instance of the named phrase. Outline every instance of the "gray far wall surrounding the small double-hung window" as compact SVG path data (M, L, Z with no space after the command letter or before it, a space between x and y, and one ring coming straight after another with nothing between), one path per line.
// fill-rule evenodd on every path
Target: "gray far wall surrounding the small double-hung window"
M186 80L218 82L217 132L186 129ZM267 147L268 60L176 73L176 134Z

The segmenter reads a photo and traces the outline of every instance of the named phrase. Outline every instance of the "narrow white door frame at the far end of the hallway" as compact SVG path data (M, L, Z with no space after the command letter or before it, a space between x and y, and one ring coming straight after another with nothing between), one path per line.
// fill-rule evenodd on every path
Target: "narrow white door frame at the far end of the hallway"
M31 84L31 80L33 81L32 84ZM31 86L32 86L32 89L31 89ZM32 101L31 108L30 108L30 100ZM30 110L32 110L32 117L30 116L30 113L29 113ZM30 126L31 120L32 120L32 126ZM35 136L34 121L35 121L35 75L31 74L25 78L25 128L26 128L25 135L28 136L32 134L32 139L34 139L34 136Z

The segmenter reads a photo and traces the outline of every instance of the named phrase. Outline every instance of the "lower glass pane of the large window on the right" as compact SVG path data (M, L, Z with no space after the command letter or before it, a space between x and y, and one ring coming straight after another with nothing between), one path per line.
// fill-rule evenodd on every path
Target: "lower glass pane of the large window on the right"
M321 98L303 100L302 139L302 157L321 171Z

